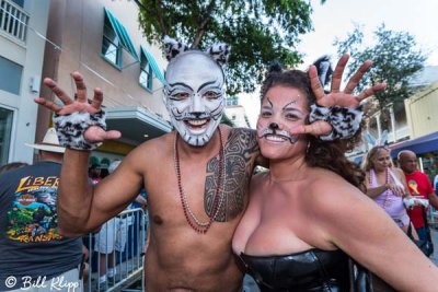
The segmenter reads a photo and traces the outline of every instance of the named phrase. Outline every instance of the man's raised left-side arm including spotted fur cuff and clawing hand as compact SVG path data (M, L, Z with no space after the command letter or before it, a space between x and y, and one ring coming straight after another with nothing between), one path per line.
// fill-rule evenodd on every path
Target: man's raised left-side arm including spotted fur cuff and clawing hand
M104 120L99 119L104 116L101 110L102 91L95 89L93 100L89 103L82 77L74 72L72 78L77 86L77 98L68 96L54 80L44 80L44 83L59 97L64 106L44 98L35 98L36 103L55 112L58 138L60 143L67 148L57 202L59 231L67 236L95 230L117 214L129 201L134 200L142 182L138 170L126 166L132 164L135 160L127 160L126 163L123 163L125 166L120 165L122 175L111 175L95 187L89 184L90 150L107 139L119 138L120 133L105 131L102 128L105 126Z

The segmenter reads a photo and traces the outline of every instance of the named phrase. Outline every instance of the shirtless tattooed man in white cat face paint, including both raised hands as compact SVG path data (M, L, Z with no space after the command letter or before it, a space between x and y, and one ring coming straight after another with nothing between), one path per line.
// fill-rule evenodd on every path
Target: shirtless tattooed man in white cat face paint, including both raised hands
M60 107L44 98L35 100L56 113L58 136L67 147L58 199L60 231L79 235L95 230L145 187L150 217L146 290L241 291L243 271L232 254L231 240L247 203L254 166L263 163L256 133L219 125L224 107L221 66L228 59L227 45L205 52L186 50L181 43L166 39L165 50L170 62L164 103L175 131L138 145L116 172L96 186L87 183L88 150L120 137L119 132L104 130L103 94L94 90L89 104L78 72L72 74L78 90L76 101L53 80L44 81L65 104ZM338 83L346 61L342 59L336 68ZM356 84L369 67L366 63L354 77ZM381 89L374 86L356 97L339 91L324 95L315 68L309 73L314 90L322 92L323 106L357 107L362 98ZM85 117L74 127L83 128L81 141L69 138L72 133L66 121L78 112ZM328 116L321 119L330 120ZM331 126L324 120L298 128L297 133L326 135Z

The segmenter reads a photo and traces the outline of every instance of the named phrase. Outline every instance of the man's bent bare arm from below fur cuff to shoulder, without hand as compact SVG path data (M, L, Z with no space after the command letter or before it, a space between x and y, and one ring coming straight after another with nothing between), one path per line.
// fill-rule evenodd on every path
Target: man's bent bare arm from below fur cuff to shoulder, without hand
M87 175L89 152L66 150L58 195L62 234L72 236L95 230L136 198L142 185L136 153L132 151L113 174L92 186Z

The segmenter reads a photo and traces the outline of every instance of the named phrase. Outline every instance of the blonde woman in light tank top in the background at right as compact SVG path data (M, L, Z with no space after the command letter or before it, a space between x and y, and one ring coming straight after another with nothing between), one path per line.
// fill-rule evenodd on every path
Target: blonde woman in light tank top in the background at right
M392 166L390 150L376 145L367 153L364 161L365 194L373 199L394 222L407 233L411 224L403 199L408 198L403 171ZM414 238L418 235L413 232Z

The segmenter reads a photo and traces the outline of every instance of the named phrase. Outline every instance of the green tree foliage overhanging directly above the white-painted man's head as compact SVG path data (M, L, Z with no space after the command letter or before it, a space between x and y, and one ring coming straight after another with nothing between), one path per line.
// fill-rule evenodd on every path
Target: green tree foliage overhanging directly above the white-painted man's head
M231 45L228 92L252 92L274 60L301 62L298 36L312 28L306 0L140 0L140 26L151 43L164 35L192 48ZM325 0L321 1L322 3Z

